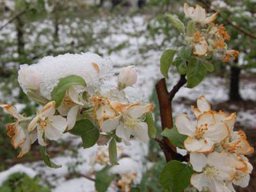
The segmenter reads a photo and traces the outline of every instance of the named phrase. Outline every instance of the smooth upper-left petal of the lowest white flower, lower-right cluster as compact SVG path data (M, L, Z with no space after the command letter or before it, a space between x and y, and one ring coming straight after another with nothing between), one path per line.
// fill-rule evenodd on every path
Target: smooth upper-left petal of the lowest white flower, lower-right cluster
M193 170L196 172L202 172L204 166L207 163L207 157L202 153L191 152L190 163L193 166Z

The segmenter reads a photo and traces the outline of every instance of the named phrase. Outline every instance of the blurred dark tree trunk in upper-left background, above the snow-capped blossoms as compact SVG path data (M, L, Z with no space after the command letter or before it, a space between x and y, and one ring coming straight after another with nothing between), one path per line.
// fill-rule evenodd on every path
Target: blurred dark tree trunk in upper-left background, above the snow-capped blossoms
M16 30L17 30L17 52L19 56L24 56L25 54L25 42L24 42L24 23L20 19L20 17L17 17L16 19Z

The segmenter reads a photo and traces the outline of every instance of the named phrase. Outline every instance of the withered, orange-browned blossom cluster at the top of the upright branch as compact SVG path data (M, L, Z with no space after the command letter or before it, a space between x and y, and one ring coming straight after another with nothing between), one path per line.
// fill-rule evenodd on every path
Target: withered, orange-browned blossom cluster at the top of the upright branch
M223 24L214 24L218 12L207 17L205 9L196 4L196 7L189 7L184 4L184 13L191 18L189 29L193 31L187 36L186 40L193 47L193 54L197 56L216 56L223 61L229 61L230 57L235 60L239 52L236 50L228 50L225 40L230 40Z

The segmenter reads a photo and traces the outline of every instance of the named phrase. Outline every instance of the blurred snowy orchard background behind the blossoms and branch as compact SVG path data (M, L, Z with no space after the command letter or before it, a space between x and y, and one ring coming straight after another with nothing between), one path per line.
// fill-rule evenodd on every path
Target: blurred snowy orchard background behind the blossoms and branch
M217 22L224 24L231 36L228 47L240 54L228 63L214 61L214 72L193 90L181 88L173 100L173 116L180 113L191 115L189 106L195 105L200 95L205 95L214 109L237 112L236 129L245 131L252 147L255 147L256 1L186 2L201 4L208 12L220 12ZM136 86L157 106L154 84L162 77L159 70L161 54L168 47L178 47L181 42L165 13L174 13L182 21L187 20L183 13L184 3L169 0L1 0L0 101L15 105L20 113L31 115L38 105L28 100L18 86L19 65L36 63L47 55L90 51L111 58L116 74L122 67L135 65L138 72ZM174 68L171 70L167 81L169 88L179 81L179 74ZM157 107L154 112L159 135ZM29 154L17 159L18 152L6 136L5 126L11 118L0 111L0 120L1 181L8 177L8 171L4 171L14 167L13 170L25 170L29 175L17 174L10 179L20 191L95 191L93 175L102 168L107 147L96 145L83 149L81 138L65 135L48 147L52 159L63 165L52 170L42 163L37 143ZM58 145L61 142L62 145ZM141 191L163 191L157 175L165 161L156 141L150 141L148 146L140 141L132 141L129 147L120 145L118 159L120 166L116 172L124 171L125 166L134 171ZM253 154L249 159L255 166L256 156ZM35 175L36 179L30 178ZM256 188L255 170L251 177L249 186L237 188L237 191L253 192ZM1 192L8 190L13 189L0 186Z

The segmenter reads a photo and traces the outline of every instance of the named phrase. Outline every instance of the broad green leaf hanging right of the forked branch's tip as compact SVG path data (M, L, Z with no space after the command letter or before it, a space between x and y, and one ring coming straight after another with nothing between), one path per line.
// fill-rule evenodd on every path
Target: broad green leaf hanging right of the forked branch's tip
M199 63L196 58L191 58L187 68L187 87L193 88L198 85L205 77L207 70L202 63Z

